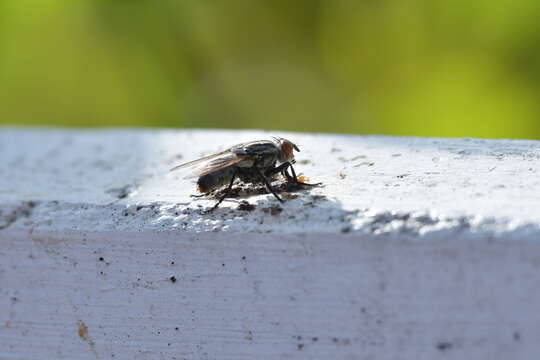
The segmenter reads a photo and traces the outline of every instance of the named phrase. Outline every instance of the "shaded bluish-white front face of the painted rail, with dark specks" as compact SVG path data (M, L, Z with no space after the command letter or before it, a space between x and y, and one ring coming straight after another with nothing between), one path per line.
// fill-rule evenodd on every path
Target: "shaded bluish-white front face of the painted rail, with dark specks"
M1 359L540 350L540 243L177 231L10 231L0 241Z

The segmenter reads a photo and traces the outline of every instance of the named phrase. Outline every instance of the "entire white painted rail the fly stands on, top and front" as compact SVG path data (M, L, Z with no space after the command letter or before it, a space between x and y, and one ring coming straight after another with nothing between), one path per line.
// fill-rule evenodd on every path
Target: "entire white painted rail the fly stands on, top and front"
M204 215L167 171L270 135L325 187ZM0 359L540 351L540 142L3 129L0 156Z

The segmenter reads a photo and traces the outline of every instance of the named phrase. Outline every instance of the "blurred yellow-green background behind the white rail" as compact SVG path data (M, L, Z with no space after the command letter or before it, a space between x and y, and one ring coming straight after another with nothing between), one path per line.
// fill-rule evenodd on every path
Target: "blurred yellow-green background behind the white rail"
M538 0L0 0L0 124L540 138Z

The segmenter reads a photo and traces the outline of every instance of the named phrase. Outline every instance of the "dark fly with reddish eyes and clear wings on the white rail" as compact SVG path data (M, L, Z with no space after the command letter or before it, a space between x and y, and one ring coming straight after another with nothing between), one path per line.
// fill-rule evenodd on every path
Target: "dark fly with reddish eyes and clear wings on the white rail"
M211 210L217 208L229 195L236 178L245 183L265 184L276 199L283 202L270 184L272 179L280 173L288 181L293 181L298 185L320 185L320 183L307 184L298 180L292 166L295 163L294 151L300 151L300 149L287 139L257 140L234 145L225 151L178 165L171 171L191 168L191 173L184 178L197 177L197 189L202 193L209 193L228 184L225 193ZM289 169L292 176L288 173Z

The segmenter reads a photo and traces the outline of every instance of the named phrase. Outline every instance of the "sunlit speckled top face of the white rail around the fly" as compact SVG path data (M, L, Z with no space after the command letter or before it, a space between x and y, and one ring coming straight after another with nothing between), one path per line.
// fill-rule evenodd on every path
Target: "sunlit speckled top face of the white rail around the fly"
M297 171L325 186L299 192L279 208L267 194L227 200L208 216L200 210L214 201L190 197L196 193L192 181L168 172L178 163L270 135L298 143ZM0 153L0 227L540 234L538 141L4 129ZM241 200L256 208L237 210Z

